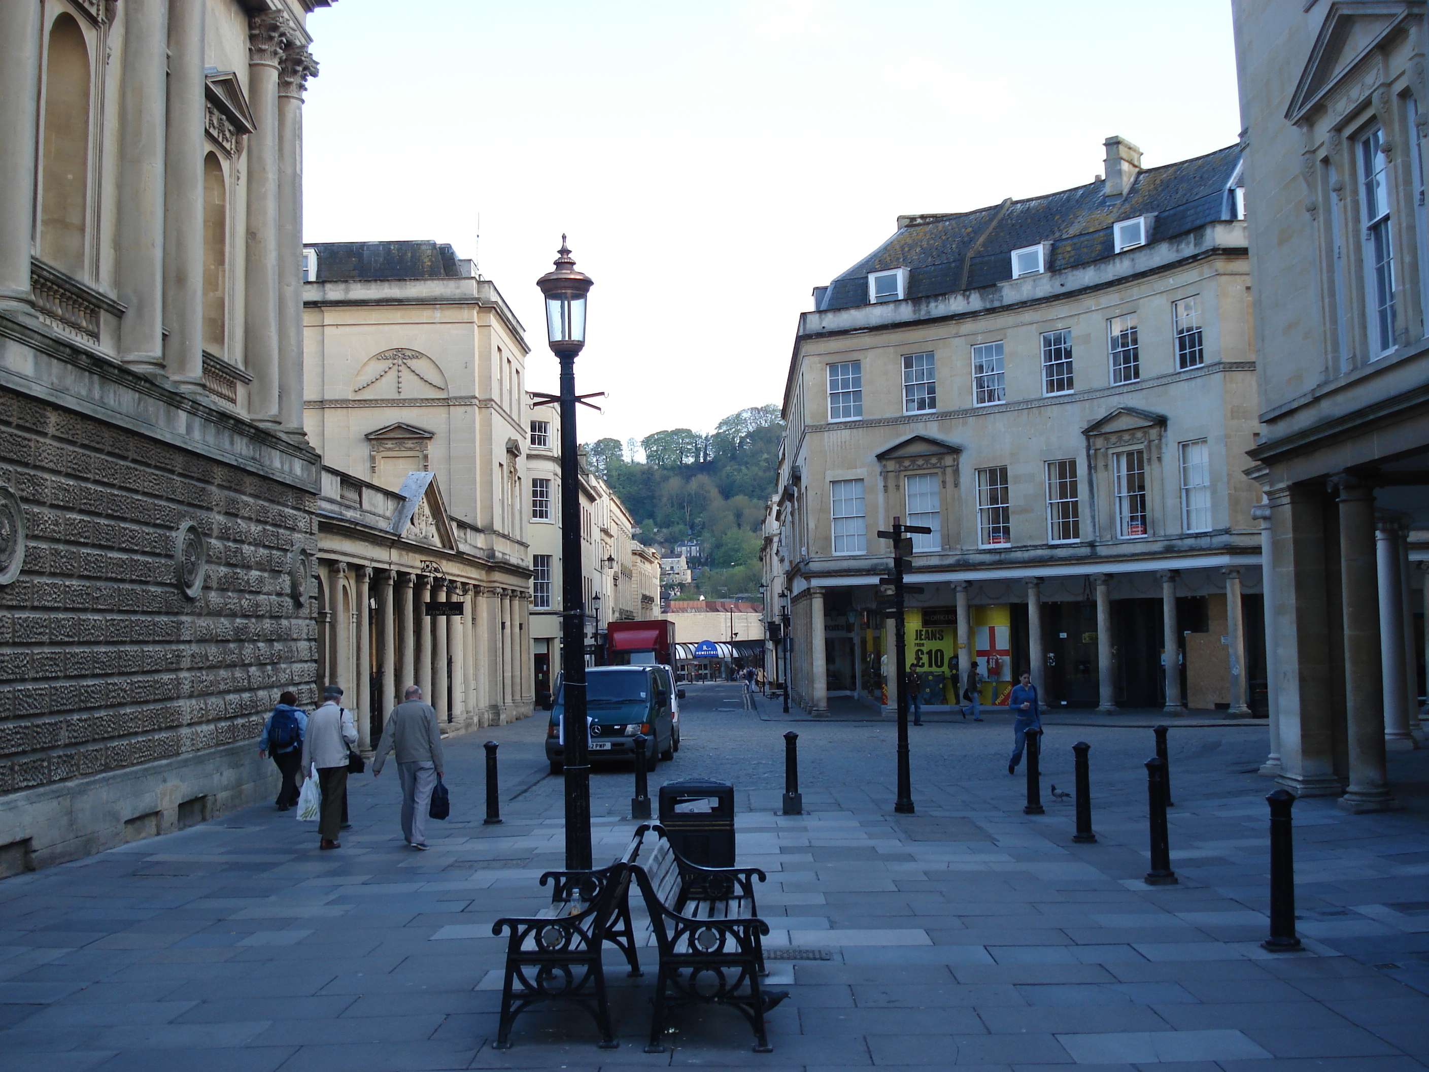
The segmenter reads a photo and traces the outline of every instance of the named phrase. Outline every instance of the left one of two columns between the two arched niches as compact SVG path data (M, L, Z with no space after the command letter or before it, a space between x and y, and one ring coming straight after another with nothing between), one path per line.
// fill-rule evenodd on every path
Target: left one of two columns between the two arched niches
M201 19L200 14L200 26L203 24ZM114 212L117 226L114 276L119 300L129 306L124 317L119 322L119 357L124 364L144 372L161 370L164 360L164 70L169 64L167 51L169 0L130 0L124 6L124 76L119 101L119 203ZM177 70L176 74L181 83L186 81ZM201 63L199 80L199 107L201 109ZM189 86L184 84L183 90L187 89ZM201 174L201 157L199 166Z

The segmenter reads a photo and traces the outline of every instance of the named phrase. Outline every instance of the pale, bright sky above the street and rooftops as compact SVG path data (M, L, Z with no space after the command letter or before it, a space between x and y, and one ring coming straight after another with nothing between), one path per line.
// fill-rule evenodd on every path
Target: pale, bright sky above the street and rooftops
M812 289L899 214L1239 131L1229 0L340 0L309 30L304 240L476 257L554 390L534 283L567 233L583 442L779 403Z

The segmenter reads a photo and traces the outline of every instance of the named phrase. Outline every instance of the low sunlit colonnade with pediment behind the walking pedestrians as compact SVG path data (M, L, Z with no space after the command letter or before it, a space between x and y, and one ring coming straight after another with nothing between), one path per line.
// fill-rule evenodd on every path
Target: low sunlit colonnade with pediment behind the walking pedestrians
M452 729L524 713L524 593L340 559L319 559L319 678L343 688L359 748L376 746L374 733L409 685L420 686ZM460 603L462 613L429 615L432 603Z

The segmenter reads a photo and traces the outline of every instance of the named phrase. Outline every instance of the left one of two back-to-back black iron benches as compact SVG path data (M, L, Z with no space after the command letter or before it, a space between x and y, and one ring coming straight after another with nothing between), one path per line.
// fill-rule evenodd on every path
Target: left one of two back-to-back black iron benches
M619 1045L610 1029L600 951L610 942L630 963L629 975L642 975L630 925L629 889L632 865L640 855L644 833L644 826L636 830L609 868L547 870L540 885L553 883L549 908L536 916L509 916L492 925L493 935L510 929L496 1049L510 1049L512 1023L520 1013L549 1001L574 1002L589 1012L600 1028L602 1049Z

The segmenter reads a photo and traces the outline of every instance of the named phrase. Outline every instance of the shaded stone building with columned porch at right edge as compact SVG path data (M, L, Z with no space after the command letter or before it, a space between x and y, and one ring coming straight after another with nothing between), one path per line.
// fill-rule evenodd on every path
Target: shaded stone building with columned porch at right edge
M1393 806L1422 739L1429 209L1422 3L1233 4L1276 713L1268 773Z

